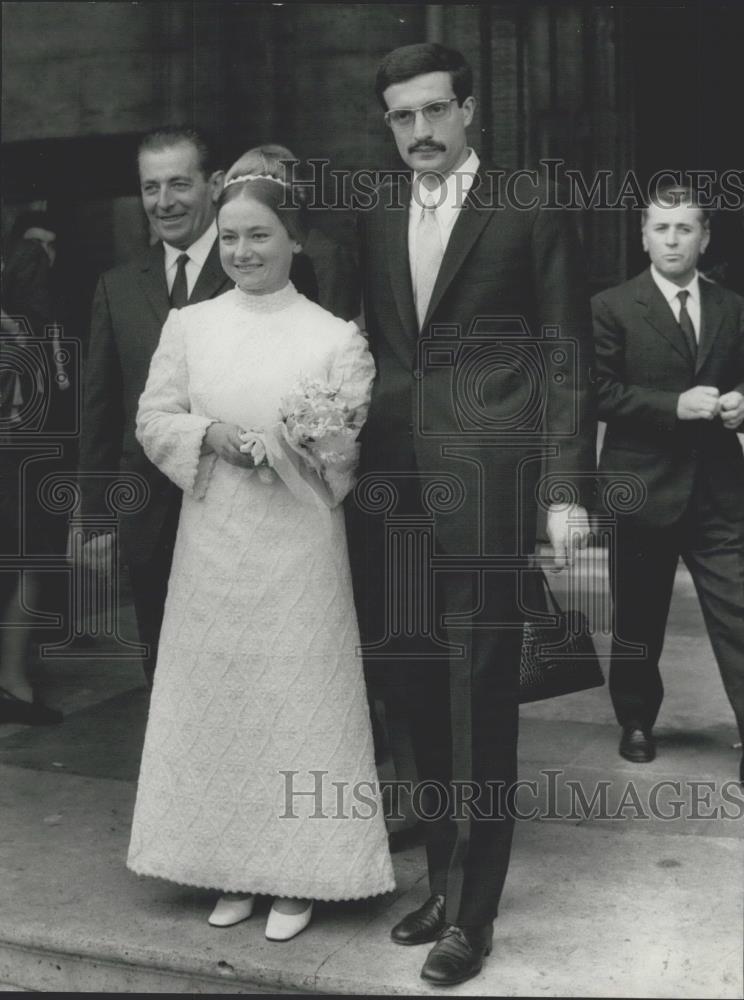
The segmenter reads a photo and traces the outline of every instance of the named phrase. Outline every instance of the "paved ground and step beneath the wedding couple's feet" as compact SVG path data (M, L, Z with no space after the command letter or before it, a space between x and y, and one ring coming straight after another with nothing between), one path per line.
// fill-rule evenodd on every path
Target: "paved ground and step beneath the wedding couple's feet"
M124 629L131 635L129 613ZM605 649L606 639L598 644ZM426 949L388 939L391 924L427 895L419 848L395 856L395 893L320 906L292 942L264 938L267 903L244 924L209 928L213 894L139 879L124 866L146 713L137 663L104 656L99 642L39 671L64 724L0 731L5 988L434 992L418 978ZM517 825L483 975L448 992L743 995L744 797L726 784L740 751L683 573L664 675L650 765L617 755L606 688L523 710L521 775L533 784L519 801L537 815ZM597 796L593 814L581 795Z

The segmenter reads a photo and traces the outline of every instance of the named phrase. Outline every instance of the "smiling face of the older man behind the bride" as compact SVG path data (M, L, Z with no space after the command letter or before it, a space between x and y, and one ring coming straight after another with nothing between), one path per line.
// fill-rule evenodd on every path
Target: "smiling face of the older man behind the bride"
M139 156L142 204L157 237L187 250L214 219L222 175L205 177L196 147L187 141Z

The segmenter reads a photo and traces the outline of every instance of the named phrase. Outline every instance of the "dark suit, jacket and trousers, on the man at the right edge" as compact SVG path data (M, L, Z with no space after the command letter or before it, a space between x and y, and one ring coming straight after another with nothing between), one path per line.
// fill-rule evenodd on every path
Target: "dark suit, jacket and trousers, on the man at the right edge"
M616 642L642 642L647 653L620 659L614 646L610 691L621 725L651 728L663 697L657 664L677 555L702 549L696 561L705 562L690 568L703 585L706 625L744 737L744 455L719 418L677 419L677 400L692 386L744 392L744 299L702 275L699 288L695 360L650 269L592 299L607 421L600 471L608 479L632 473L645 489L638 509L618 518L611 579Z

